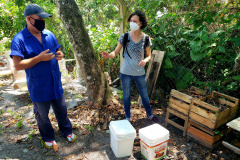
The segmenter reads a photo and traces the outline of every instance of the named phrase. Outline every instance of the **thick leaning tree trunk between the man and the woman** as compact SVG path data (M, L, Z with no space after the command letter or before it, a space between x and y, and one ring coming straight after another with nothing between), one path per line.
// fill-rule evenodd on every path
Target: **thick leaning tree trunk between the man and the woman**
M112 92L75 0L55 0L55 3L84 77L89 101L100 105L109 103Z

